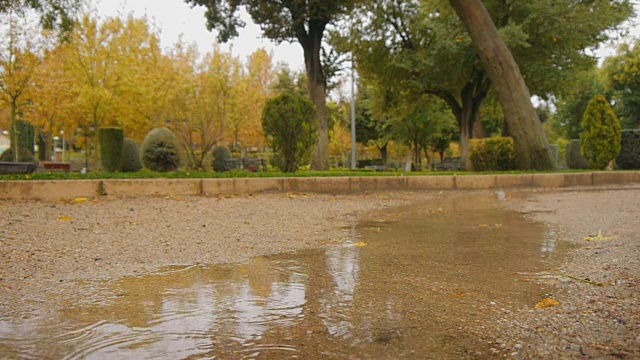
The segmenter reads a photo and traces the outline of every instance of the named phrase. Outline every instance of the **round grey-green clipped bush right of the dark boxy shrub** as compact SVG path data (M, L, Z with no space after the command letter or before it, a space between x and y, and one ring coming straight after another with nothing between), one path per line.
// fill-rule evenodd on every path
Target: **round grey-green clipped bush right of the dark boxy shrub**
M180 167L178 149L178 140L169 129L153 129L140 146L142 164L151 171L176 171Z

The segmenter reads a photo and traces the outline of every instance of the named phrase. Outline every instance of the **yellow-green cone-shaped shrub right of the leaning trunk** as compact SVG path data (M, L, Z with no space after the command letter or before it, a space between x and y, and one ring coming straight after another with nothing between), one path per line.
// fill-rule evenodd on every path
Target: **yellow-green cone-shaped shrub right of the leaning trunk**
M607 99L596 95L582 117L582 155L592 169L602 170L620 154L620 121Z

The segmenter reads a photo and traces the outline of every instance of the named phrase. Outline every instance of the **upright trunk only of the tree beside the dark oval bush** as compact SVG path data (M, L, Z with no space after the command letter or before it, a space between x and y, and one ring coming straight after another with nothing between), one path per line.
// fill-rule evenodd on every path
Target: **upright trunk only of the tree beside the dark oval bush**
M318 141L311 157L311 169L329 170L329 128L327 124L327 102L325 97L325 79L322 73L320 48L324 27L309 25L309 34L300 39L304 50L304 62L309 82L311 102L316 106L316 122L318 124Z

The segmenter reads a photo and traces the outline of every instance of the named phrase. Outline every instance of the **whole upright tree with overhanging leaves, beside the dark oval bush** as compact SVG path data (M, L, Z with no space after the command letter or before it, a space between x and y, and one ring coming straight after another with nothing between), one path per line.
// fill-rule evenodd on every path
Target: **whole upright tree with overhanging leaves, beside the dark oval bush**
M329 169L329 137L326 107L326 78L321 49L326 28L341 15L348 14L354 0L185 0L207 8L207 27L219 30L218 38L226 42L238 35L244 24L238 10L244 7L263 34L277 42L297 41L304 51L305 68L311 101L316 106L318 141L313 152L312 169Z

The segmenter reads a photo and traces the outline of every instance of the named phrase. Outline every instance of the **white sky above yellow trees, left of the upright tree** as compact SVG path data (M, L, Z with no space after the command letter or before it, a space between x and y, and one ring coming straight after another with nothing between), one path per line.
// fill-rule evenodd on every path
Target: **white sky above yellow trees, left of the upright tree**
M209 52L216 42L216 34L206 28L204 8L191 8L182 0L92 0L100 17L133 14L135 17L147 16L161 30L163 48L175 44L180 35L183 41L197 44L201 54ZM241 29L240 36L232 39L233 55L246 60L258 48L273 53L274 64L289 64L292 70L304 70L304 58L299 44L275 43L263 39L260 28L245 16L247 26ZM228 45L222 45L228 49Z

